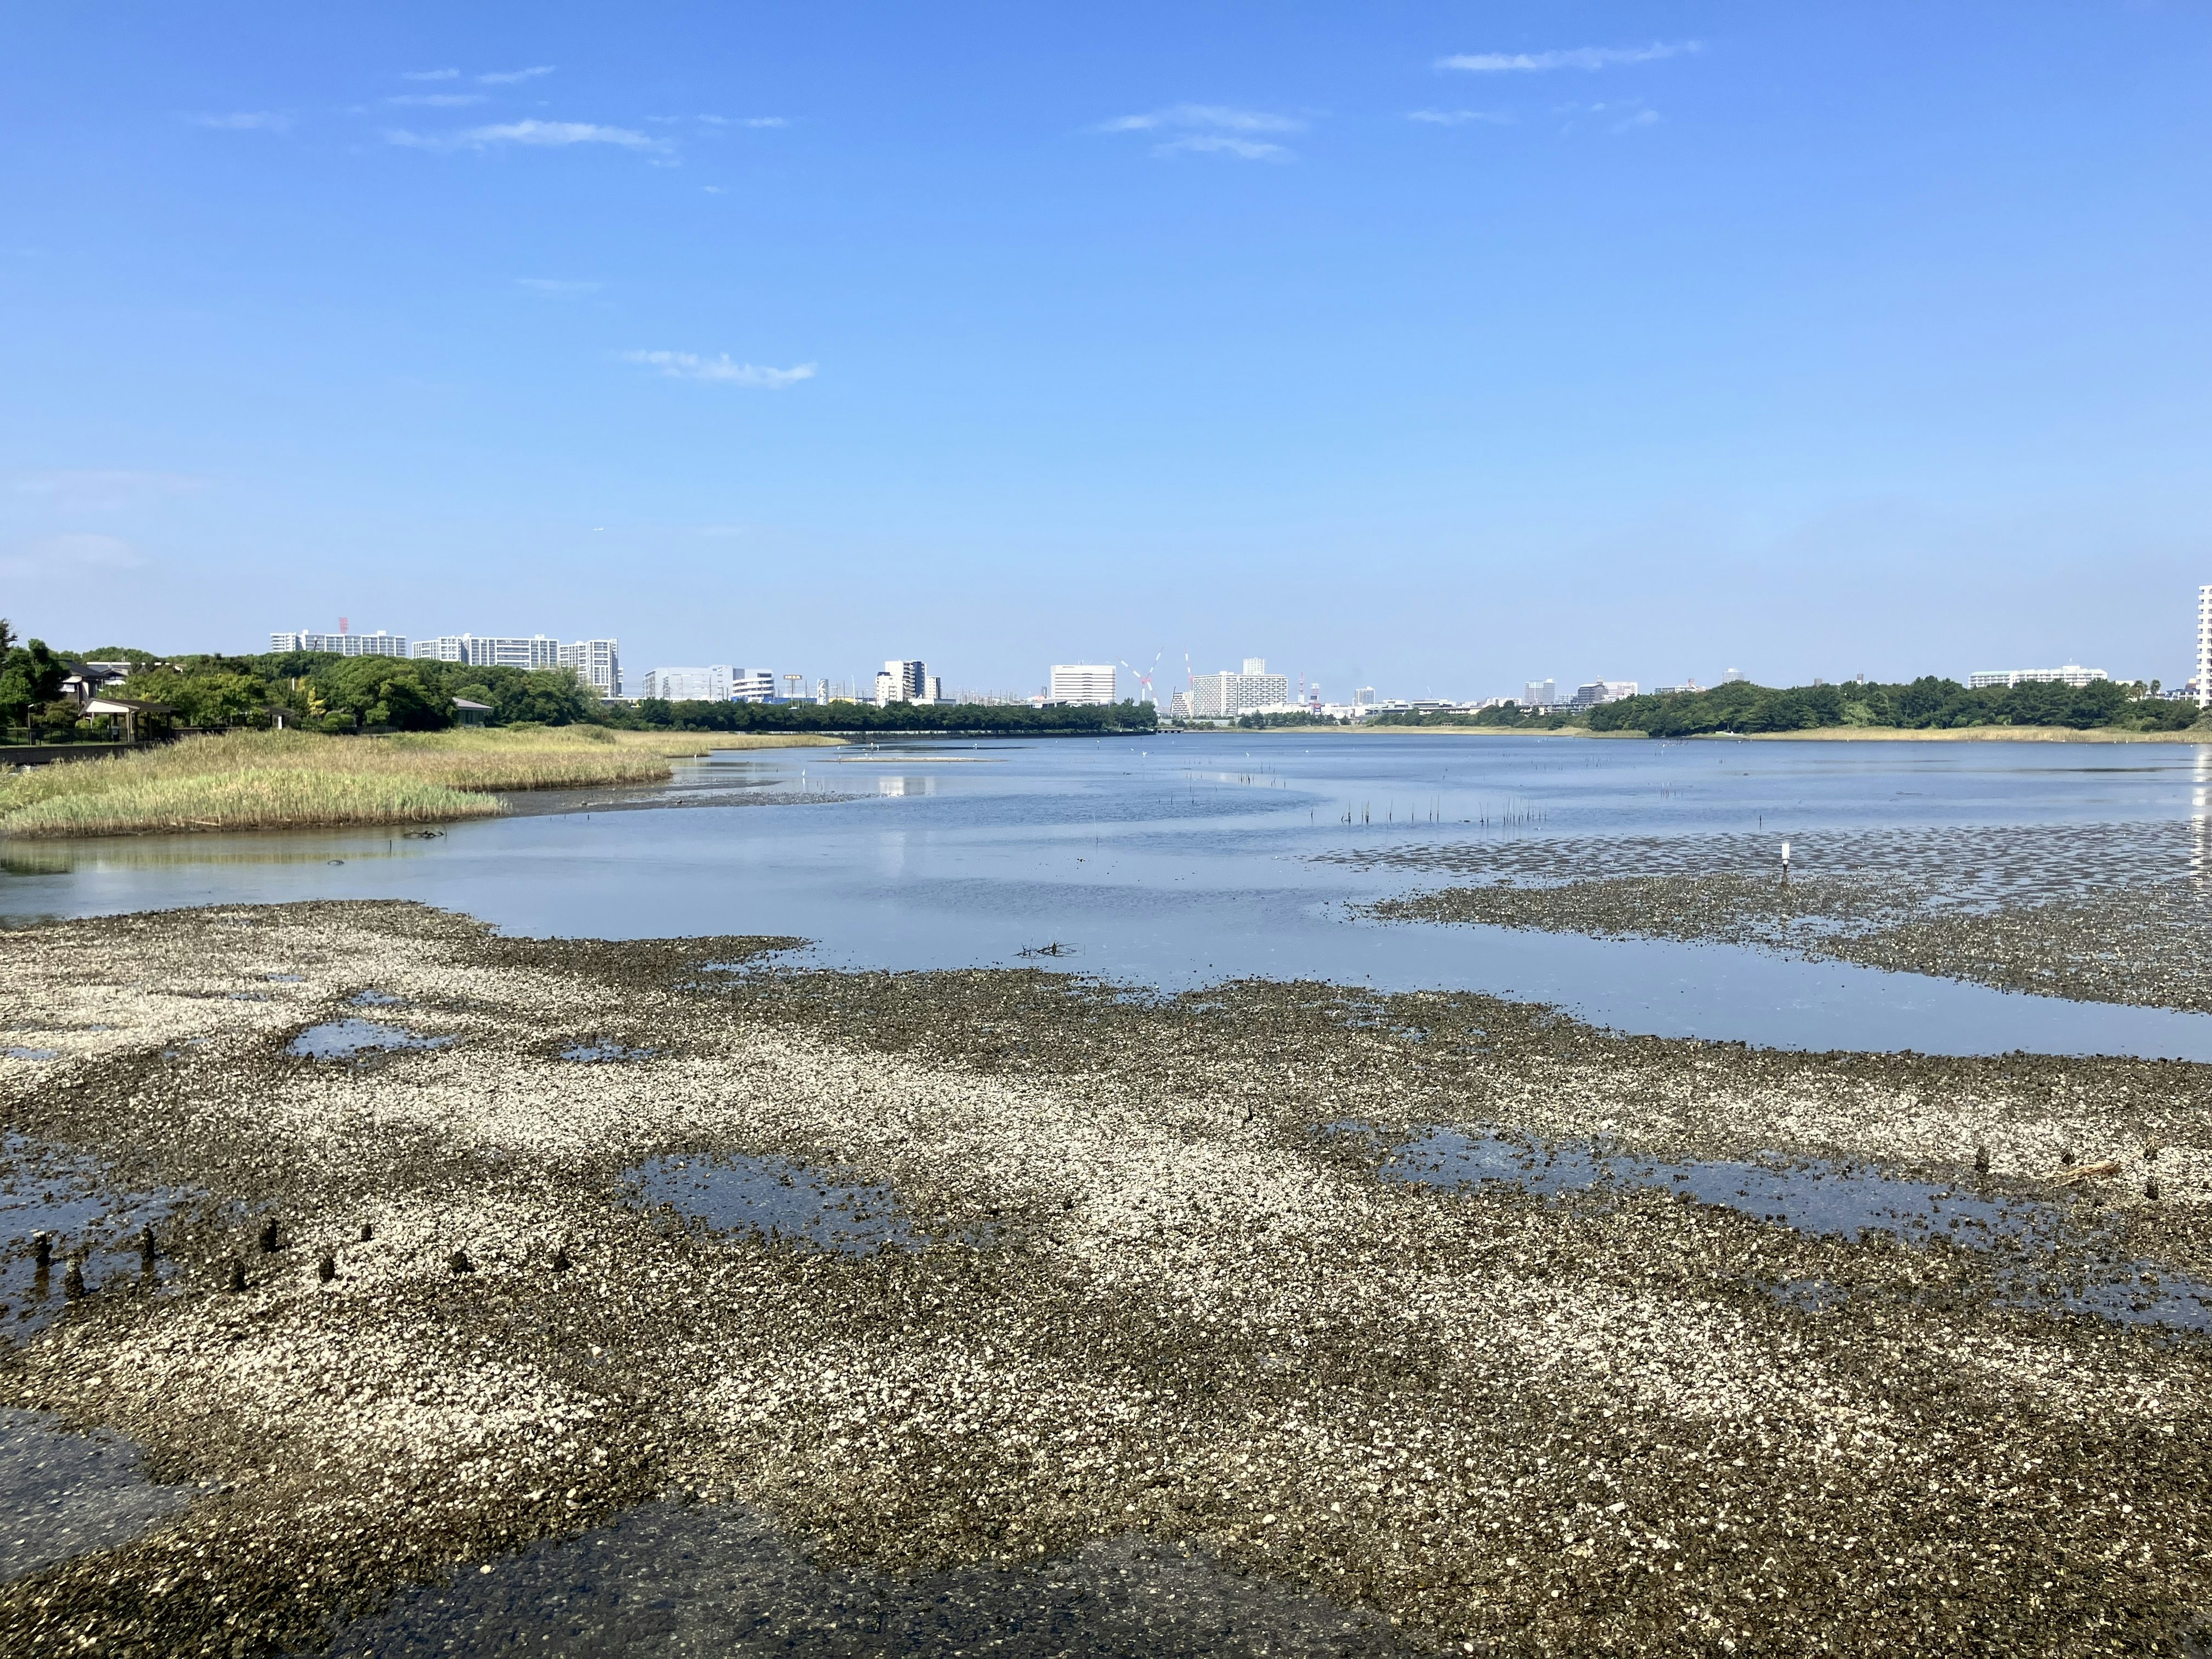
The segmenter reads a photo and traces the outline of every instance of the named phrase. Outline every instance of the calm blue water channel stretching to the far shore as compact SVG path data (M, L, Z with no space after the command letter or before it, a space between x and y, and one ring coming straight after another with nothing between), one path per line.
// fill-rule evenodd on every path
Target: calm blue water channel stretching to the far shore
M726 787L723 787L726 785ZM2212 1060L2212 1018L2028 998L1728 945L1378 925L1447 876L1316 854L1460 838L2208 816L2190 745L1155 734L726 752L668 801L389 832L146 836L0 856L0 925L416 898L513 933L790 933L821 967L1051 967L1506 993L1621 1031L1792 1048ZM650 792L646 792L650 794ZM818 796L849 796L821 801ZM779 805L779 799L814 796ZM1349 823L1345 818L1352 818ZM2177 869L2177 876L2188 874Z

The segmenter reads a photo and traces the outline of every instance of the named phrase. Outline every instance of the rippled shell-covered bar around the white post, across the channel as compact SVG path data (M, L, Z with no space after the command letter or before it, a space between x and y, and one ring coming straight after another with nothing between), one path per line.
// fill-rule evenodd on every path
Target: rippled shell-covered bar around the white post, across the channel
M2201 823L1467 841L1329 854L1471 876L1369 907L1398 922L1752 945L2077 1002L2212 1013Z

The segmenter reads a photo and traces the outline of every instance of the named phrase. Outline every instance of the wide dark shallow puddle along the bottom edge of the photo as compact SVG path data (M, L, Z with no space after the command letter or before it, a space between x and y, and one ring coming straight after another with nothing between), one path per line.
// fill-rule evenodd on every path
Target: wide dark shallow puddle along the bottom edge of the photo
M922 1577L816 1566L737 1504L646 1504L425 1586L338 1635L332 1659L993 1655L1365 1659L1407 1652L1374 1613L1239 1573L1203 1548L1110 1537L1031 1566Z

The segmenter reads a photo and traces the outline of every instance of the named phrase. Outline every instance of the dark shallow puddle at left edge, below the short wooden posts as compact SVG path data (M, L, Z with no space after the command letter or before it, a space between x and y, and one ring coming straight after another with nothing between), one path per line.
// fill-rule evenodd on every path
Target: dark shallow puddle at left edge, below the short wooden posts
M184 1509L119 1436L69 1433L51 1411L0 1407L0 1584L86 1551L115 1548Z

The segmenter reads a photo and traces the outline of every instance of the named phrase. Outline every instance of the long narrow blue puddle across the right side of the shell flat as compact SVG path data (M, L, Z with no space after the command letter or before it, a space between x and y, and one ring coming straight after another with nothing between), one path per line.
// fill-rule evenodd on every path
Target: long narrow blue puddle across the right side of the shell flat
M1371 1133L1358 1124L1334 1128ZM2006 1261L2022 1263L2004 1270L2008 1281L2004 1301L2013 1305L2212 1332L2212 1285L2154 1263L2110 1261L2099 1250L2108 1241L2106 1230L2084 1225L2062 1203L2008 1197L1993 1188L1916 1181L1865 1164L1745 1159L1668 1164L1615 1152L1599 1141L1520 1141L1498 1133L1449 1128L1389 1148L1376 1172L1385 1181L1438 1188L1502 1181L1537 1197L1657 1188L1814 1239L1889 1237L1913 1248L1940 1239L1960 1250L1995 1250L2004 1243L2013 1248ZM2079 1272L2055 1270L2055 1259L2044 1252L2059 1248L2084 1263ZM2048 1263L2051 1270L2039 1270L2035 1263ZM1843 1287L1809 1279L1765 1290L1807 1312L1825 1312L1847 1301Z

